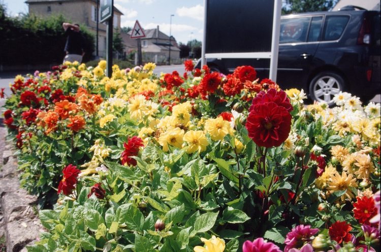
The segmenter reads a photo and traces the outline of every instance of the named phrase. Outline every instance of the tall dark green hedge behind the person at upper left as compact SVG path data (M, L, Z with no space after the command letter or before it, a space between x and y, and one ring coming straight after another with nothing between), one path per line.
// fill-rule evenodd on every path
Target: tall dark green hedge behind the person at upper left
M65 53L66 37L63 35L62 15L40 18L33 15L7 17L0 5L0 64L57 64ZM94 35L81 25L85 37L84 61L92 58Z

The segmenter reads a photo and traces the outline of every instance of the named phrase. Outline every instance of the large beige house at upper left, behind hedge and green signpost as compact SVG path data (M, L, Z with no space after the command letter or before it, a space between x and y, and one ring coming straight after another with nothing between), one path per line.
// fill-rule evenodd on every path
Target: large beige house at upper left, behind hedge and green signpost
M50 16L62 14L68 21L86 25L94 33L97 32L97 1L96 0L27 0L29 14L36 16ZM120 16L123 15L114 6L113 26L120 30ZM100 17L100 15L99 15ZM106 56L106 28L99 23L98 28L98 50L99 56Z

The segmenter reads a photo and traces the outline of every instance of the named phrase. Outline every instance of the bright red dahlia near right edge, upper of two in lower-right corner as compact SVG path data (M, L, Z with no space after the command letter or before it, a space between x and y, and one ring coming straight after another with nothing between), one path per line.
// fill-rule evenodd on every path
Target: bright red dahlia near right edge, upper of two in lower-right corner
M355 219L360 224L370 225L369 220L377 214L377 208L374 205L373 197L367 196L356 197L357 202L353 204L353 212L355 213Z

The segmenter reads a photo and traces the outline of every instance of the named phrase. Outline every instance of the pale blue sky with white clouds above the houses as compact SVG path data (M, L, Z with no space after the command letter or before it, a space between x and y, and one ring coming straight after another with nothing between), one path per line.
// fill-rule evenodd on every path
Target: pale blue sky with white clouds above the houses
M25 0L0 0L0 3L6 5L8 14L12 16L28 12ZM203 0L114 0L114 6L124 14L121 26L132 27L139 20L143 29L159 25L161 31L169 34L173 14L171 33L177 42L202 41Z

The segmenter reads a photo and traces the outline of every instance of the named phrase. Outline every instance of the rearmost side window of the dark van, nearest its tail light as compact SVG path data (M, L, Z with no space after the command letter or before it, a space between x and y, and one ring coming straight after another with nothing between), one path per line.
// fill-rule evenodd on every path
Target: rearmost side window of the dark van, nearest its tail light
M324 23L323 41L338 40L348 20L348 16L327 16Z

